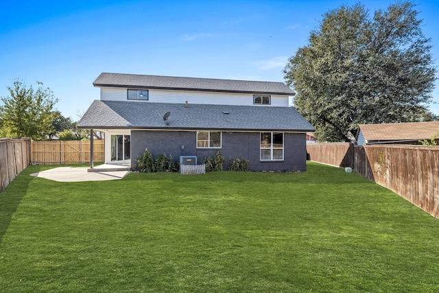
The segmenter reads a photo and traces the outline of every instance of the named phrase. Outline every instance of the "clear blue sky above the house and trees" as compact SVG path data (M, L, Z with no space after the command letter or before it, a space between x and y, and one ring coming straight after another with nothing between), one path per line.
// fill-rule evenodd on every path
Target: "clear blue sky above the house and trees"
M43 82L78 121L102 72L284 82L283 67L322 14L350 0L7 1L0 10L0 97ZM372 14L394 1L362 1ZM439 1L418 0L439 65ZM439 76L439 75L438 75ZM434 102L439 103L439 82ZM431 110L439 115L439 104Z

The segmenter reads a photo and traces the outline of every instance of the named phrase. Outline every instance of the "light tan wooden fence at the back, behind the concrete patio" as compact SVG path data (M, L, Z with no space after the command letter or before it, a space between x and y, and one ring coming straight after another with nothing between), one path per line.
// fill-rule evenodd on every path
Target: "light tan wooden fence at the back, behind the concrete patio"
M31 160L43 165L89 163L90 141L32 141ZM93 161L104 162L104 140L93 140Z

